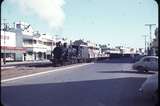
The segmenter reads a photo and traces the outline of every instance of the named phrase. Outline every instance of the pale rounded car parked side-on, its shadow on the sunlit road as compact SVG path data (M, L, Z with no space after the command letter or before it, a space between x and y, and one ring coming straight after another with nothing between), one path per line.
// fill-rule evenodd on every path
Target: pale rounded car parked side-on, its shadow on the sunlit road
M158 56L145 56L134 63L133 69L138 71L158 71Z

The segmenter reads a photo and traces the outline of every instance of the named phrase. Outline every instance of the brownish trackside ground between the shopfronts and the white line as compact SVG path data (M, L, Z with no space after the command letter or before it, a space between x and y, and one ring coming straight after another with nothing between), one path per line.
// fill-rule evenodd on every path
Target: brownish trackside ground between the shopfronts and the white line
M1 63L1 80L54 69L52 66L35 67L50 64L49 60Z

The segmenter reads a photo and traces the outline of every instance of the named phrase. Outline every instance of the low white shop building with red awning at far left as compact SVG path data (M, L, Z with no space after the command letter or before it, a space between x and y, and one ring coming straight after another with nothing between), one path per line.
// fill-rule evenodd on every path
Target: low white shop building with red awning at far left
M16 33L10 31L1 31L1 61L22 60L25 48L18 46Z

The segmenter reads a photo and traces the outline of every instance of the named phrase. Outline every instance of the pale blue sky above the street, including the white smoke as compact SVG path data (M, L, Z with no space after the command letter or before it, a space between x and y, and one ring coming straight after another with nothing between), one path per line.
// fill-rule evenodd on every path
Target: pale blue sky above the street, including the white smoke
M149 34L149 28L144 25L151 23L158 26L158 7L154 0L45 0L53 12L46 9L45 4L44 9L40 5L42 8L37 10L38 6L24 3L29 7L24 8L22 1L25 0L21 0L21 3L20 0L4 0L2 18L9 23L21 20L40 32L69 39L81 38L100 44L110 43L112 46L144 47L142 35ZM51 18L44 17L39 11L48 13Z

